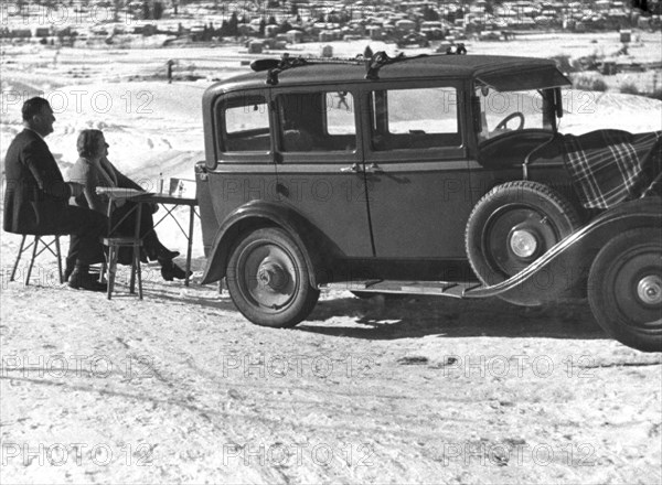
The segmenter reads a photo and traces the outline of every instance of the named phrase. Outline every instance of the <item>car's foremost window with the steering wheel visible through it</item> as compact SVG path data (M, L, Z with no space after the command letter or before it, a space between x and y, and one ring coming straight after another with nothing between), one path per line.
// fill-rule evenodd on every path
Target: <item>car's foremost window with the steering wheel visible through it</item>
M498 91L479 87L481 131L479 141L500 137L513 130L554 129L552 90Z

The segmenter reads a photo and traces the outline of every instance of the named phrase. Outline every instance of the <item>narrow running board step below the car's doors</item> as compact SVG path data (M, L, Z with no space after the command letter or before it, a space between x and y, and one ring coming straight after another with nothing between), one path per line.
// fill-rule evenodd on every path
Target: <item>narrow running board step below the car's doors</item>
M480 288L477 282L457 281L401 281L401 280L353 280L320 284L320 290L364 291L370 293L431 294L463 298Z

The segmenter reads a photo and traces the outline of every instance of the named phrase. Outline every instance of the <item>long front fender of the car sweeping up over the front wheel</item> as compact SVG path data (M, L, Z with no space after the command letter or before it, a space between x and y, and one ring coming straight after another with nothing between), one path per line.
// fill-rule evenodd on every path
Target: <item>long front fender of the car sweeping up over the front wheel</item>
M662 234L662 198L645 197L608 209L574 231L541 258L505 281L468 290L466 298L487 298L517 293L531 303L556 299L546 288L557 278L566 289L585 279L597 252L613 235L637 227L655 227ZM558 284L557 284L558 287Z

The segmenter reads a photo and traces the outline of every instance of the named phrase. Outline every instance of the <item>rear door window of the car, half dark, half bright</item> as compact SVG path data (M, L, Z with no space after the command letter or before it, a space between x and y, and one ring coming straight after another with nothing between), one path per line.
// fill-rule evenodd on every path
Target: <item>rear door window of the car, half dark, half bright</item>
M284 152L356 149L354 97L349 91L290 93L276 97Z

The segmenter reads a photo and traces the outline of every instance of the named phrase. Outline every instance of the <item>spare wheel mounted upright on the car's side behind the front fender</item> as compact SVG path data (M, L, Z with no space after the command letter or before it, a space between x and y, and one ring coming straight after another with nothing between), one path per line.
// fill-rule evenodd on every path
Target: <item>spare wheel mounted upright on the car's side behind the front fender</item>
M488 192L469 216L465 234L469 263L483 284L496 284L578 227L577 211L553 188L537 182L508 182ZM545 289L547 299L552 290ZM542 302L522 294L504 300L523 305Z

